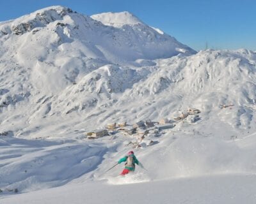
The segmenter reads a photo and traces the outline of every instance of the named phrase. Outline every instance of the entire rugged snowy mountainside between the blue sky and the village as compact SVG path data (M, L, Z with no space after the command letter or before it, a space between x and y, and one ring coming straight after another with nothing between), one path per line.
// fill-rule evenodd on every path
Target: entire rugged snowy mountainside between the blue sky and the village
M118 119L173 119L189 107L202 110L205 122L216 113L236 131L254 127L255 52L196 53L148 25L120 29L62 6L39 11L56 19L0 37L1 131L72 136L73 123L89 131ZM20 19L35 19L39 11ZM229 117L220 109L223 104L234 105Z

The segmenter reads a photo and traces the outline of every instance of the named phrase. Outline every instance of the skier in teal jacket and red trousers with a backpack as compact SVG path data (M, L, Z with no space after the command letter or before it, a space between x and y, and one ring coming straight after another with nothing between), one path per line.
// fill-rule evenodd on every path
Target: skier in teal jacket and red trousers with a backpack
M129 173L130 171L134 171L135 170L135 164L137 164L137 165L140 164L140 162L138 161L138 159L134 155L133 151L128 152L127 156L122 157L118 161L118 164L120 164L122 162L126 162L126 163L125 163L124 170L122 171L122 173L120 173L120 175L125 175L125 174Z

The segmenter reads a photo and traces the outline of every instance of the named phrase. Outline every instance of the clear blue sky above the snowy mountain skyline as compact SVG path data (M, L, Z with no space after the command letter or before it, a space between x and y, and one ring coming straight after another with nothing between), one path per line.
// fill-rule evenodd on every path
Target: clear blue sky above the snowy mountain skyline
M195 50L256 51L256 0L0 0L0 21L53 5L85 15L130 11Z

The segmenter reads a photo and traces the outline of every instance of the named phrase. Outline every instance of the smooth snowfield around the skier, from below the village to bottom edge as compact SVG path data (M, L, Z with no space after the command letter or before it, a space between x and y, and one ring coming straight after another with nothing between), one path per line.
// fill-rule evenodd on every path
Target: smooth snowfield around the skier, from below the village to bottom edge
M137 166L134 173L125 177L116 177L122 165L104 173L131 149L122 144L121 136L119 142L111 142L109 136L93 142L4 137L1 186L9 184L7 189L18 188L19 193L25 194L4 191L1 203L81 203L84 199L88 203L128 203L129 193L132 201L140 203L253 203L253 135L243 140L220 140L218 136L191 133L172 135L166 133L158 144L134 150L147 171Z

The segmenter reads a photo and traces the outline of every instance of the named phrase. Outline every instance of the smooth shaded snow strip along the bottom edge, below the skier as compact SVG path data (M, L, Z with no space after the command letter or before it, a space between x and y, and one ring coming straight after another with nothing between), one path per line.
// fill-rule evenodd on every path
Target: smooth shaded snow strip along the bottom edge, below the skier
M122 186L93 182L15 195L1 203L254 203L255 182L253 175L196 177Z

